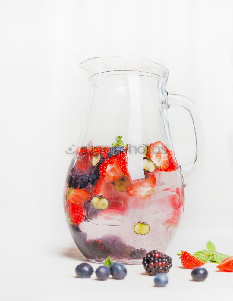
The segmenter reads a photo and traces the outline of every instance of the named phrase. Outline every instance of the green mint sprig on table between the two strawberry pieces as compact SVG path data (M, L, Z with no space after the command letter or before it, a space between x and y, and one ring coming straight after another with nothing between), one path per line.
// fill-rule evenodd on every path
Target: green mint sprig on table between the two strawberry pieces
M210 261L215 263L221 263L223 259L230 257L230 255L216 252L216 247L210 240L207 241L205 250L197 251L193 255L203 262Z

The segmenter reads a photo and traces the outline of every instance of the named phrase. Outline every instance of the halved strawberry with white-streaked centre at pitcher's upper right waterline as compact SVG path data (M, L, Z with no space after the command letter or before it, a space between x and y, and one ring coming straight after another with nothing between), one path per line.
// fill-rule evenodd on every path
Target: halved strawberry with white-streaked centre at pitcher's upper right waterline
M170 158L168 155L168 148L161 142L151 143L147 147L147 157L149 157L156 167L164 170L170 165Z

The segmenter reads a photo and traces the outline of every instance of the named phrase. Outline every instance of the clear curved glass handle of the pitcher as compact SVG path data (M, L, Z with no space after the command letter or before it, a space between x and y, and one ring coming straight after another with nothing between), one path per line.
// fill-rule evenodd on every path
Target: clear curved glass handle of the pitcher
M184 178L184 185L186 185L198 175L203 165L203 143L201 137L200 121L198 120L197 110L194 107L194 104L190 101L190 99L177 94L167 93L167 95L168 109L169 107L176 105L184 107L189 112L193 122L194 137L196 139L194 161L189 165L181 166L181 173Z

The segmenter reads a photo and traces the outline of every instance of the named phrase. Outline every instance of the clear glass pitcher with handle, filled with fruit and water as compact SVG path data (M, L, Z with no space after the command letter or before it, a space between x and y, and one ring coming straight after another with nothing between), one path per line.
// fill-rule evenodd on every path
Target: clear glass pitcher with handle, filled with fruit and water
M99 57L83 61L90 97L85 126L68 169L64 208L71 235L91 262L141 263L164 252L184 208L184 183L200 169L173 151L168 109L192 103L166 92L168 70L146 60ZM194 137L197 145L197 127ZM181 174L182 172L182 174ZM183 181L184 176L184 181Z

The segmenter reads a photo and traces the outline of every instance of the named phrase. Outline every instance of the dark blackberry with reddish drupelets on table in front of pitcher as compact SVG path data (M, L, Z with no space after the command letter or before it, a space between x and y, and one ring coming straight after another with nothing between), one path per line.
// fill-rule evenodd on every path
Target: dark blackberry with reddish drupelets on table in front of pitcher
M172 267L172 258L162 252L153 250L143 257L142 264L146 273L153 276L156 273L168 273Z

